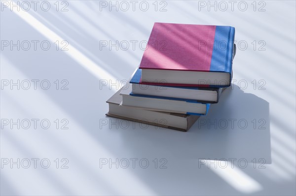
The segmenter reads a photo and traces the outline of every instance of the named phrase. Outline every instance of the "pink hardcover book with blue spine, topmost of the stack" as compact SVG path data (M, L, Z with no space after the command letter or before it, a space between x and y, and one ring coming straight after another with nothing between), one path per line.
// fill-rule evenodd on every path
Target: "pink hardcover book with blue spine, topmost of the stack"
M155 23L142 57L142 83L230 86L235 28Z

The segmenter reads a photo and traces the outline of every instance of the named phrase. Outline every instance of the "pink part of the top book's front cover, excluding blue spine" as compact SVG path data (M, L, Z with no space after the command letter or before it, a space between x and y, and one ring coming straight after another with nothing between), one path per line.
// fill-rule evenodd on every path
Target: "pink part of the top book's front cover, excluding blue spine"
M155 23L140 69L210 71L216 26Z

